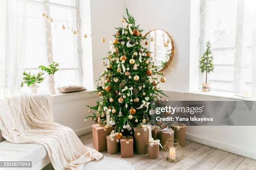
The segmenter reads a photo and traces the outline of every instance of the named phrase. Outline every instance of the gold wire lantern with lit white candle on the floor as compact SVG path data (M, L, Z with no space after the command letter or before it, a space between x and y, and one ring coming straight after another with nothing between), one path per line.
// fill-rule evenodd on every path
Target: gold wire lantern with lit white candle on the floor
M178 162L184 156L184 150L177 139L167 139L162 148L163 157L170 162Z

